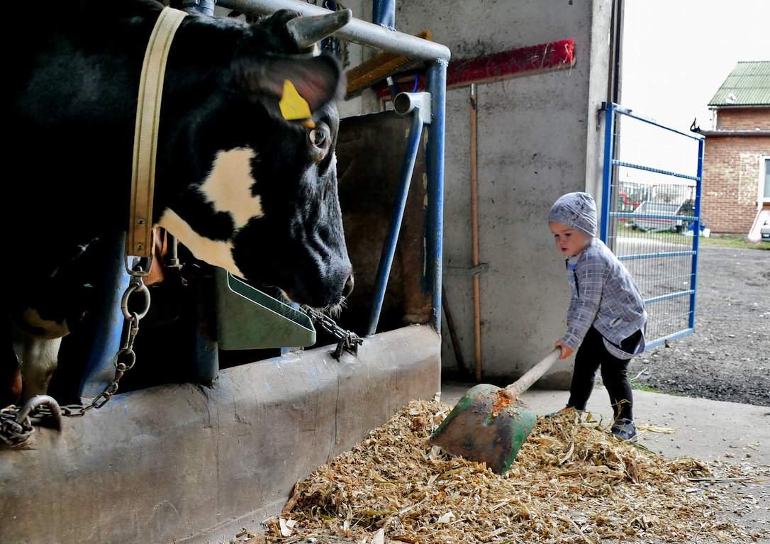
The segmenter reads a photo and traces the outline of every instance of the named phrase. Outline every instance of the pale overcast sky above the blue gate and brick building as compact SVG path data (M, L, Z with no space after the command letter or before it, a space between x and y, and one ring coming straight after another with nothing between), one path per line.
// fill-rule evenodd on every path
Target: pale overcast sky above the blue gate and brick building
M621 104L688 132L738 61L770 60L770 0L625 0ZM694 176L698 146L628 117L621 118L618 159ZM681 182L621 169L629 181Z

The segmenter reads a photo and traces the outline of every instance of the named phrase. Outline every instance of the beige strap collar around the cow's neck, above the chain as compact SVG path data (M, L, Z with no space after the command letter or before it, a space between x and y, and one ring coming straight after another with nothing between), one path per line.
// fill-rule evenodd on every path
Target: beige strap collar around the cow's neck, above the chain
M139 100L136 105L134 154L131 174L129 231L126 237L126 257L152 255L152 200L155 193L156 153L160 122L160 101L166 59L176 30L187 14L173 8L163 8L149 36L142 76L139 79Z

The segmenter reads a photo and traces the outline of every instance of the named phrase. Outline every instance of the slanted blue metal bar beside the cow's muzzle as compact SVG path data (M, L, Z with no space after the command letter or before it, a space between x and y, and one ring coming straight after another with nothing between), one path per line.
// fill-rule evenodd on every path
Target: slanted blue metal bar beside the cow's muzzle
M403 210L407 206L409 186L412 181L414 163L417 160L417 151L420 149L420 138L422 135L423 121L420 117L420 109L415 108L412 112L412 127L409 131L407 153L403 157L403 164L401 166L401 184L396 196L396 202L393 204L393 215L390 217L390 227L388 228L385 243L383 243L380 264L377 266L377 279L374 280L372 311L369 315L369 327L367 328L368 336L377 332L377 323L380 321L380 312L382 311L383 300L385 299L387 280L390 276L390 267L393 265L393 255L396 254L396 244L398 243L398 233L401 230Z

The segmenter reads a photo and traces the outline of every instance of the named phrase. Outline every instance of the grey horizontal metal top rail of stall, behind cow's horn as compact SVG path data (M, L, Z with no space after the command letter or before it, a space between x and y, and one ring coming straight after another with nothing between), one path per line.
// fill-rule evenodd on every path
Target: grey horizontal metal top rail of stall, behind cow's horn
M301 2L300 0L218 0L216 4L223 8L256 15L267 15L279 9L291 9L302 15L328 15L332 13L328 9ZM358 18L353 18L343 29L335 32L334 35L349 42L370 45L377 49L410 56L413 59L430 61L443 59L448 61L450 58L450 51L446 45L428 42L425 39L386 29L383 26L362 21Z

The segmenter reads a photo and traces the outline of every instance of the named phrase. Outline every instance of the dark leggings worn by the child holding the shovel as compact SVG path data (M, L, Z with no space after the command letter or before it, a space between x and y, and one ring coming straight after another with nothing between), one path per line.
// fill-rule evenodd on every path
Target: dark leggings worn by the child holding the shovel
M641 331L621 342L624 351L631 351L641 337ZM630 349L629 349L630 348ZM604 338L599 331L588 329L583 343L575 355L568 407L584 410L591 391L594 390L596 371L601 367L601 381L610 395L614 418L633 419L634 398L628 383L628 363L631 359L618 359L604 347Z

